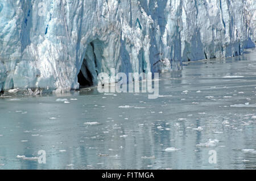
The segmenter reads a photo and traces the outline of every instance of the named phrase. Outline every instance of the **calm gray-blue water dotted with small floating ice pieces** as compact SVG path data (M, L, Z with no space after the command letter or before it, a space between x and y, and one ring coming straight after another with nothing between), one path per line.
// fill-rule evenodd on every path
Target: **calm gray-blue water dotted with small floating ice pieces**
M0 98L0 169L256 169L255 49L159 79L158 99L96 89Z

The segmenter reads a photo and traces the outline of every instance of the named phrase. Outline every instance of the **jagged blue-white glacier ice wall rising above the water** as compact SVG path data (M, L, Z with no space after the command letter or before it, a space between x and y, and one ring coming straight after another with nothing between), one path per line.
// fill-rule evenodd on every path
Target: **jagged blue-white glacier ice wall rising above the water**
M0 0L0 91L180 69L256 41L254 0Z

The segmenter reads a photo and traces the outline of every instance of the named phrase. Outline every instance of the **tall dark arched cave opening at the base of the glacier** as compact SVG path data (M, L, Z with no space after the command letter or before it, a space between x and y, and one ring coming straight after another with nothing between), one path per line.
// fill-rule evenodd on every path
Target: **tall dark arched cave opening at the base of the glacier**
M97 85L99 70L104 62L104 43L100 40L90 42L86 47L85 57L77 75L80 87Z

